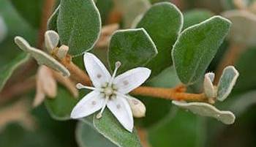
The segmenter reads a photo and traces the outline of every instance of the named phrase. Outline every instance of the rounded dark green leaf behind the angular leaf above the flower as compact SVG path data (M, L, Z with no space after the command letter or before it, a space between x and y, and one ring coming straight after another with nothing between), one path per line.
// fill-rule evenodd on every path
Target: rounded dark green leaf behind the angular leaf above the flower
M137 28L144 28L157 46L158 54L147 67L151 75L157 75L166 67L170 67L171 50L183 25L183 15L170 2L154 4L140 20Z

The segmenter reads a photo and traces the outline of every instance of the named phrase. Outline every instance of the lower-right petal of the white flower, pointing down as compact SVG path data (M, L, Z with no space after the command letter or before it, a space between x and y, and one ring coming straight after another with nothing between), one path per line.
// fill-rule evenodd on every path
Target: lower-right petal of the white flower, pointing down
M117 96L116 99L110 99L108 101L107 107L118 119L121 125L129 132L133 129L133 118L132 110L129 108L129 103L126 99Z

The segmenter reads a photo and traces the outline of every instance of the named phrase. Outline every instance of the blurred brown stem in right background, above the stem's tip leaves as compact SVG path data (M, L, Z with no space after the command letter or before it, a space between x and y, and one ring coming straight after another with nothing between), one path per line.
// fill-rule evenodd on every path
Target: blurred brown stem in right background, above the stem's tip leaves
M222 75L222 70L225 69L228 65L234 65L236 60L239 58L241 53L246 49L246 45L241 45L236 42L230 42L230 46L227 49L225 55L222 57L222 60L217 67L216 76L214 79L214 84L217 85L220 76Z

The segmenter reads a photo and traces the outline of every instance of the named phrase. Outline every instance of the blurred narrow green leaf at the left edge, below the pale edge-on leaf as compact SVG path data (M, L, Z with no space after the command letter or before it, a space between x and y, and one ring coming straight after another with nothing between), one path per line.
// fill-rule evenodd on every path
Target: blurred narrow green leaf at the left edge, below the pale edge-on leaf
M29 56L26 53L20 54L18 57L13 59L10 63L5 64L4 67L0 69L0 91L4 88L7 80L12 76L12 72L15 71L20 65L24 64L29 60Z

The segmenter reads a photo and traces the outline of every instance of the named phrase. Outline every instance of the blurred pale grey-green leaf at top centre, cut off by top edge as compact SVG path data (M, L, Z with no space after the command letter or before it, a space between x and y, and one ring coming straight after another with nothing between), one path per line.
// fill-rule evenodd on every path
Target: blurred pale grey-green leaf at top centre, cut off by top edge
M151 6L148 0L114 0L114 2L116 9L123 15L124 28L131 27L133 20Z

